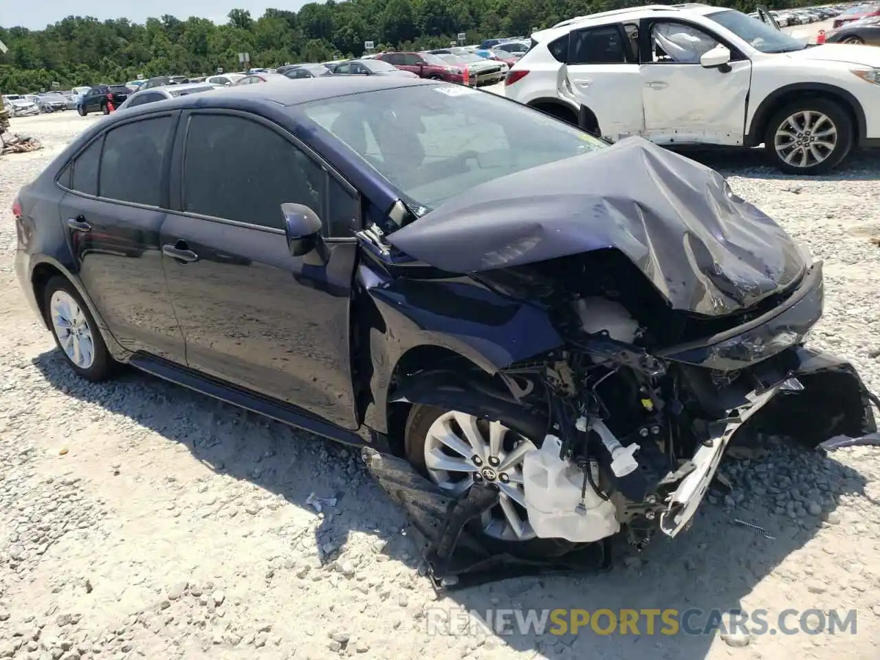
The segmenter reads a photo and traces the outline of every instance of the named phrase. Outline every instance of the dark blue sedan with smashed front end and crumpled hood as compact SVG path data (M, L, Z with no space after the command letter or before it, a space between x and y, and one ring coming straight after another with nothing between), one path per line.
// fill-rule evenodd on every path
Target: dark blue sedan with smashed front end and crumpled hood
M676 536L731 443L876 431L853 366L804 346L821 262L720 174L460 85L134 107L13 212L70 369L363 446L435 567Z

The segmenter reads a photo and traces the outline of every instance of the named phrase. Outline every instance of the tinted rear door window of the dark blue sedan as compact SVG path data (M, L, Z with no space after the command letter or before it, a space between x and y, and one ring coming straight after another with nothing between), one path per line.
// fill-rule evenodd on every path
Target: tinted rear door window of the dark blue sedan
M101 158L101 197L162 205L162 168L170 116L131 121L106 134Z

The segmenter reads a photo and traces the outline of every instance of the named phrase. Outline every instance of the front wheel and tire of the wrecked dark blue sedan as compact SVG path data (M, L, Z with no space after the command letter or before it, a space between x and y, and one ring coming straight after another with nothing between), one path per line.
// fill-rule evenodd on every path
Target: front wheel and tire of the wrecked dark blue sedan
M479 398L475 393L474 400ZM416 404L405 429L407 460L452 496L465 493L475 481L499 489L499 504L467 527L490 551L536 559L557 556L574 544L535 536L528 523L522 484L524 454L540 446L546 422L525 415L522 419L513 417L489 421Z

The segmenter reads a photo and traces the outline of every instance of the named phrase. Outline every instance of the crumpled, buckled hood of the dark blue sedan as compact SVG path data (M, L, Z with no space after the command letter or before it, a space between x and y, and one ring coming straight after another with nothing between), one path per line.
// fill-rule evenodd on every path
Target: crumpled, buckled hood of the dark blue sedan
M721 174L641 137L473 187L387 240L459 274L616 248L674 309L707 316L750 307L805 268Z

